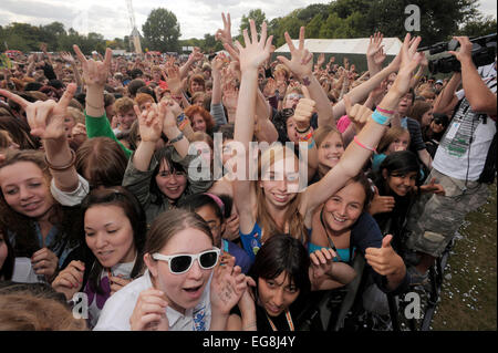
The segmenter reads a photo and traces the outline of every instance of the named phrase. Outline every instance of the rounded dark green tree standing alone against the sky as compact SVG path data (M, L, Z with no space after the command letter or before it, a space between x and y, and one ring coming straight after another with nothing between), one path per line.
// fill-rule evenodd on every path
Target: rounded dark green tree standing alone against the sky
M144 39L149 50L160 52L178 52L180 27L175 13L158 8L151 11L147 21L142 25Z

